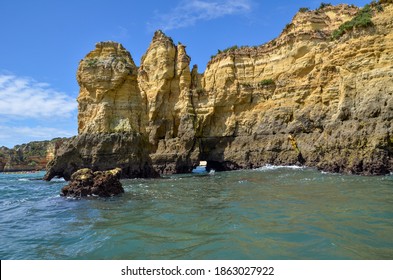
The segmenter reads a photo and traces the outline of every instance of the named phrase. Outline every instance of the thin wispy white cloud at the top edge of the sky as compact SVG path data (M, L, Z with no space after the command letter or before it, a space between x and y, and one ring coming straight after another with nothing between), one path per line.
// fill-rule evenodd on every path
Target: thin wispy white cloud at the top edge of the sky
M251 0L182 0L170 13L159 15L153 29L178 29L194 25L197 21L212 20L251 11Z

